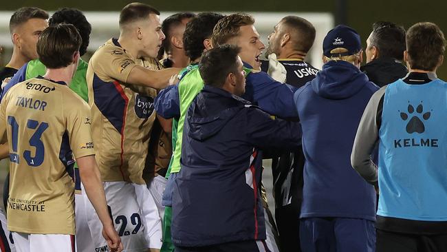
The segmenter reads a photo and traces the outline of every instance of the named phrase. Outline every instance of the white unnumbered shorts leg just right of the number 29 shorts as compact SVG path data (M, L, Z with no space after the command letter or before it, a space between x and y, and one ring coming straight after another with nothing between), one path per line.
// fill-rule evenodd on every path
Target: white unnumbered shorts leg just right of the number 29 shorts
M148 247L151 249L160 249L162 247L162 220L160 218L157 204L146 185L133 184L137 194L137 202L144 216L144 235Z

